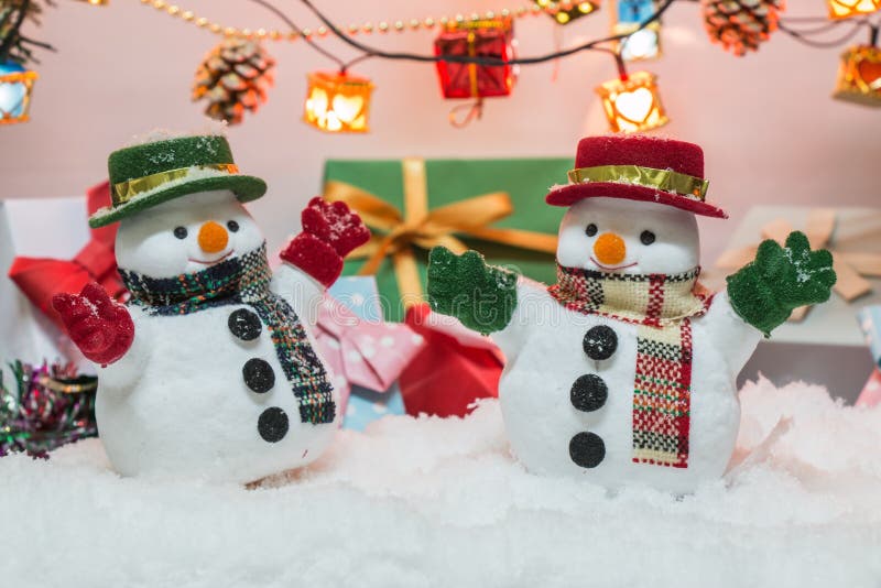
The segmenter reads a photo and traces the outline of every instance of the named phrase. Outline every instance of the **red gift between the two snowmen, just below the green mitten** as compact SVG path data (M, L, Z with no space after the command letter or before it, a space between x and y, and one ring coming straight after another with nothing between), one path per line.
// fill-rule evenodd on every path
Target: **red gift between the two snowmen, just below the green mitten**
M504 358L488 337L427 304L411 306L404 320L426 342L399 379L407 414L465 416L477 399L499 395Z

